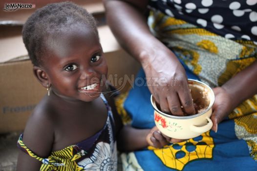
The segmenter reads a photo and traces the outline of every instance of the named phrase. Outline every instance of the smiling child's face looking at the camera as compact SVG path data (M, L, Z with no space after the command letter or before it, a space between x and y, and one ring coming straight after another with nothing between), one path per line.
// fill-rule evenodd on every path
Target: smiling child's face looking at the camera
M57 42L50 57L43 61L52 91L71 100L97 98L107 76L107 63L97 36L85 28L83 32L65 33Z

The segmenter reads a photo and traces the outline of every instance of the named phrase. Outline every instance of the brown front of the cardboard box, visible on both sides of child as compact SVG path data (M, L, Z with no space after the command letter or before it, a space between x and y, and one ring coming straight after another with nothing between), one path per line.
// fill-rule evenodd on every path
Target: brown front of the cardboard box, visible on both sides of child
M105 57L109 80L112 78L114 83L119 83L122 78L115 87L125 92L140 65L123 50L107 52ZM126 78L130 82L124 82ZM45 94L46 89L32 73L30 60L0 63L0 133L23 130L32 110Z

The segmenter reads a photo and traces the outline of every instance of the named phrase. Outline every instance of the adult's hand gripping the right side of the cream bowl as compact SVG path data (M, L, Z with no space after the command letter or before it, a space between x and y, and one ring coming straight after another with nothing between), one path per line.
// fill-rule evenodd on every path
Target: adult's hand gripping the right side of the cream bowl
M233 111L232 97L222 87L213 89L215 101L213 105L213 114L211 119L213 121L212 130L217 132L218 123L221 122L228 114Z

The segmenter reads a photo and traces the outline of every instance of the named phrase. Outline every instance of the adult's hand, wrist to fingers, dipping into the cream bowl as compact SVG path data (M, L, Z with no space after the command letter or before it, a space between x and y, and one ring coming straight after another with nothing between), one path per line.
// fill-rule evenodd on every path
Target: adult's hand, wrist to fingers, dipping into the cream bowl
M143 68L149 90L161 111L177 116L195 114L186 72L179 60L166 47L150 55L151 61L143 63Z

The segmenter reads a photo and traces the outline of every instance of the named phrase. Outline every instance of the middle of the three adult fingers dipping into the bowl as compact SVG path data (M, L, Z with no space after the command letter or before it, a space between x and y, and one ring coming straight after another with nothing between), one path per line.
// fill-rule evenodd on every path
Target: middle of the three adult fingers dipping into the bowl
M183 111L181 109L181 104L177 93L172 92L167 96L168 105L172 115L183 116Z

